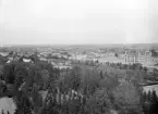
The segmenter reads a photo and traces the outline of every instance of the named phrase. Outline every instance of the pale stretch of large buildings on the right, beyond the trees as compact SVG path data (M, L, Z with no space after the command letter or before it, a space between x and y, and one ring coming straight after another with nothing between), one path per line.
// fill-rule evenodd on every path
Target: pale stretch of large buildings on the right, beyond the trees
M125 50L122 52L88 52L71 54L71 60L77 61L98 61L99 63L122 63L136 64L141 63L144 66L153 66L158 63L158 56L153 56L151 51L148 50Z

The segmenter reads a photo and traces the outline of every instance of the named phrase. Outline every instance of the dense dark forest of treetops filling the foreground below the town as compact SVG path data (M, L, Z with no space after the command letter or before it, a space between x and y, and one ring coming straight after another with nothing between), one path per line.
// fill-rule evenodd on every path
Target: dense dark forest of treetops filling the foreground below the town
M0 97L13 98L15 114L158 114L156 91L146 93L139 86L150 77L139 64L101 69L98 62L80 62L59 69L31 59L0 59Z

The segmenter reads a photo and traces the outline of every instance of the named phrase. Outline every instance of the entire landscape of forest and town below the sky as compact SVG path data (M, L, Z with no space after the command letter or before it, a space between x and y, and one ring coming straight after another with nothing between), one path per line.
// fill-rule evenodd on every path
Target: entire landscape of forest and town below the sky
M156 114L158 47L138 46L1 47L0 106L15 114Z

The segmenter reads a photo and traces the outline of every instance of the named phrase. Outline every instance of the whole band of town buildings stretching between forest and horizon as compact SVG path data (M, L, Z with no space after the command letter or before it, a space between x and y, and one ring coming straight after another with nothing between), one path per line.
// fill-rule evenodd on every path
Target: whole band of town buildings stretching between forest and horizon
M19 59L25 55L23 61L31 62L27 58L36 52L36 49L14 49L16 50L13 55L9 55L10 52L0 52L2 56L9 55L9 60ZM94 49L94 50L80 50L80 49L50 49L41 48L36 52L37 56L41 61L48 61L54 67L71 68L71 60L76 61L98 61L99 63L122 63L122 64L135 64L141 63L144 66L154 66L158 63L158 56L154 56L151 51L148 50L134 50L134 49ZM72 51L73 50L73 51ZM58 60L58 61L57 61Z

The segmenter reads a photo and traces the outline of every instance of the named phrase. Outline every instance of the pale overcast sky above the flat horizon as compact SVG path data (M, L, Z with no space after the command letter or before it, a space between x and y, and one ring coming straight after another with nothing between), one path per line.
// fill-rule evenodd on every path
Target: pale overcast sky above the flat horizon
M158 0L0 0L3 45L158 42Z

